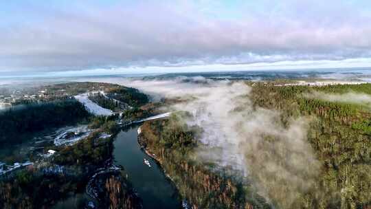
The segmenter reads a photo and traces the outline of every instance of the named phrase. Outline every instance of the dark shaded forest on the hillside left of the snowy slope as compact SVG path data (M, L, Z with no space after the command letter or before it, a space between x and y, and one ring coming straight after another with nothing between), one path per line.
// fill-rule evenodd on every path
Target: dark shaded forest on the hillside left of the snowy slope
M55 100L14 106L0 111L0 144L16 144L23 135L76 124L89 118L77 100Z

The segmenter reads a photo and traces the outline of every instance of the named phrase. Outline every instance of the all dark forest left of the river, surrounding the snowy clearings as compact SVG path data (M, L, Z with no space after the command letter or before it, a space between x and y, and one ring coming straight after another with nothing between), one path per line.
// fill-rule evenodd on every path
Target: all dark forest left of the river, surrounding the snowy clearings
M48 98L52 101L17 105L0 113L1 144L20 143L32 139L32 133L78 123L88 124L89 129L93 130L89 136L71 146L49 144L43 147L43 153L53 150L56 151L54 155L44 157L28 168L0 176L0 208L52 208L59 201L77 196L82 198L78 199L76 207L87 208L87 203L92 200L85 192L89 180L98 172L99 175L91 183L98 188L93 199L96 207L142 208L142 199L136 195L124 171L108 169L113 164L113 138L120 131L116 124L118 115L94 116L74 98L63 99L66 94L81 94L97 89L106 91L111 87L121 88L104 83L41 87L47 89ZM128 94L142 93L131 90ZM148 100L144 96L139 100ZM128 98L134 99L136 96ZM139 100L132 104L142 104ZM102 133L109 137L101 137ZM25 137L21 137L21 134Z

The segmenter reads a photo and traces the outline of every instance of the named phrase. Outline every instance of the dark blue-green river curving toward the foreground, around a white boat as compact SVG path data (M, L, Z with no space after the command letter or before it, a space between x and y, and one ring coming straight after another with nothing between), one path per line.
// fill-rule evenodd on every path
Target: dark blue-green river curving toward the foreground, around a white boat
M121 131L115 138L113 156L116 164L124 166L128 180L143 199L144 209L181 208L175 186L155 160L141 150L137 142L137 128L134 126L128 131ZM151 167L143 163L144 158L148 159Z

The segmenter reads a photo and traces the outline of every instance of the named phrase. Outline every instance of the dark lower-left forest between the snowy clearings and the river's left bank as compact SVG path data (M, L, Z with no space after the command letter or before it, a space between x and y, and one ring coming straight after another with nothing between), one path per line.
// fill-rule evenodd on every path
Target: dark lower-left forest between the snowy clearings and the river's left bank
M0 181L0 208L52 208L58 201L83 195L89 179L98 169L111 163L113 137L120 131L114 117L94 117L89 126L95 131L72 146L48 146L56 155L34 167L20 170ZM101 138L100 133L112 134ZM141 199L122 170L100 172L93 184L98 186L98 208L141 208ZM85 195L86 196L86 195ZM91 199L83 196L77 208L86 208Z

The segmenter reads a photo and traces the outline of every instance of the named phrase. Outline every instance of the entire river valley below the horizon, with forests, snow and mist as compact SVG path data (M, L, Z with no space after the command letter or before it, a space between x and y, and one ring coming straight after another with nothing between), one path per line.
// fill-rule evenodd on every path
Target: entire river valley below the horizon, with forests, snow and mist
M1 175L0 203L370 207L371 85L285 83L189 78L41 87L43 98L14 102L0 115L1 143L12 147L0 155L3 170L27 164ZM70 119L59 120L67 112Z

